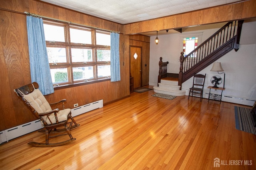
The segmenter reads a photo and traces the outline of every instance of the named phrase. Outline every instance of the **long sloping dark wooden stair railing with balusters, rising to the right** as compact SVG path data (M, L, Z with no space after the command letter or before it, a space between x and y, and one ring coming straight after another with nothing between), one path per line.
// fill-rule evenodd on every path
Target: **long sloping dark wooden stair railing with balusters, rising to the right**
M238 51L243 22L243 20L230 21L185 57L183 51L180 53L178 82L180 90L182 83L194 74L200 72L232 49Z

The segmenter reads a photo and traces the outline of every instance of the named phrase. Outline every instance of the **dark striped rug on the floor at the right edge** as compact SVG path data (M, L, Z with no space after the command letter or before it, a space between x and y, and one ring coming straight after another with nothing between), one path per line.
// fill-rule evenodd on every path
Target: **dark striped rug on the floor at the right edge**
M235 106L236 129L256 135L250 112L249 108Z

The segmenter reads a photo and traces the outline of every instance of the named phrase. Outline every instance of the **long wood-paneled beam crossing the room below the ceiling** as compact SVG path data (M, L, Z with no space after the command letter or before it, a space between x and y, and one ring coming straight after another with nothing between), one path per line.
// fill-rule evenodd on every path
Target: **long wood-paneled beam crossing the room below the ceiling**
M124 25L124 34L175 29L256 17L256 0L206 8L183 14Z

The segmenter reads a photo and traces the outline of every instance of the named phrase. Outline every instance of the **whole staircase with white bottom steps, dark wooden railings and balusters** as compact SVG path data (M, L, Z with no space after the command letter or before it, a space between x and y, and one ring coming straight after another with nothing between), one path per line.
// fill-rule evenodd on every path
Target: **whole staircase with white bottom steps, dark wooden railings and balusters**
M166 72L168 62L163 63L162 57L160 57L158 86L153 87L154 92L172 96L184 96L185 90L181 90L183 82L232 49L238 51L242 24L243 20L230 21L185 57L182 51L178 81L168 80L167 75L169 73Z

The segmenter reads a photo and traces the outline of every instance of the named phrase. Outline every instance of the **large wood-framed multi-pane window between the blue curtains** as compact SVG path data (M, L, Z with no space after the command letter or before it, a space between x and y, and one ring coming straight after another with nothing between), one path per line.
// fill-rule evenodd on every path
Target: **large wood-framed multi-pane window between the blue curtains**
M54 86L110 78L110 32L44 20Z

